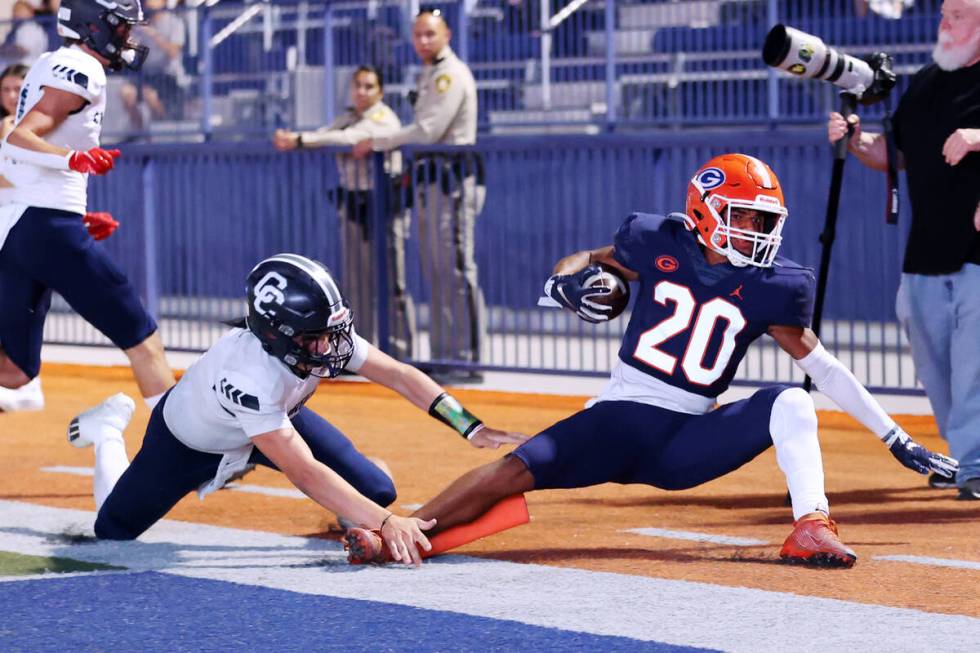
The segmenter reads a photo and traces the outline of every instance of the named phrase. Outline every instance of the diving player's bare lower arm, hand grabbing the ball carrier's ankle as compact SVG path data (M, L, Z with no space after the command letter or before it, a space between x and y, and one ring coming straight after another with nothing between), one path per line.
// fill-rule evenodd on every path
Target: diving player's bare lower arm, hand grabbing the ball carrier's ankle
M295 429L277 429L252 438L259 450L276 467L321 506L338 515L346 515L357 523L383 532L392 557L405 564L420 564L417 546L428 551L428 538L422 533L435 525L435 520L423 521L399 517L374 503L316 458Z

